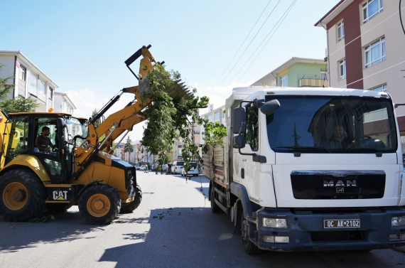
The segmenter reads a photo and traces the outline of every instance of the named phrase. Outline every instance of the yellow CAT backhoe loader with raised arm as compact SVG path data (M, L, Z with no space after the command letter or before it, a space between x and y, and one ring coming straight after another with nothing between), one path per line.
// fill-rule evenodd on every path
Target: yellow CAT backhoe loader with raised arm
M119 144L135 124L147 119L142 110L152 102L141 93L148 90L148 72L161 64L153 59L150 47L140 48L125 61L129 68L142 56L139 77L129 68L139 86L120 90L90 119L54 112L0 112L0 215L4 220L31 220L44 209L65 211L78 205L87 223L102 225L139 206L142 193L136 169L112 156L112 144L122 136ZM134 94L134 100L96 127L124 93ZM180 85L178 92L169 94L192 97ZM44 128L49 129L48 136Z

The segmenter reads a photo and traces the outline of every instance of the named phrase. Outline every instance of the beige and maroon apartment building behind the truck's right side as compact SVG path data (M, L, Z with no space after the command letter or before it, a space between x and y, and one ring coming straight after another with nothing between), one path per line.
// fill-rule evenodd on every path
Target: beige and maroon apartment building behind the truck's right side
M342 0L315 26L325 28L330 87L388 92L405 103L405 2ZM405 148L405 106L396 109Z

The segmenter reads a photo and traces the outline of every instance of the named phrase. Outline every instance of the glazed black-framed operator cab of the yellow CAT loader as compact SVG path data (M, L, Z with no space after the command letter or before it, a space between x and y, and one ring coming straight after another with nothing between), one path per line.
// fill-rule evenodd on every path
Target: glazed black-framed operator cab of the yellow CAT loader
M73 170L73 137L87 135L83 121L70 117L70 114L10 114L12 139L6 146L5 165L12 164L17 156L16 160L20 161L29 161L30 156L35 156L48 173L51 183L68 183ZM41 144L40 140L46 137L52 146Z

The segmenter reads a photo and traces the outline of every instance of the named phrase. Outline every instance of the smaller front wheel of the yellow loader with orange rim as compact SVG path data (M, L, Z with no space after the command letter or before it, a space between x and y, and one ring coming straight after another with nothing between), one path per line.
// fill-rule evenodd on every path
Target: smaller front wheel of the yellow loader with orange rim
M79 198L79 211L89 224L105 225L118 217L121 198L107 184L95 184L87 188Z

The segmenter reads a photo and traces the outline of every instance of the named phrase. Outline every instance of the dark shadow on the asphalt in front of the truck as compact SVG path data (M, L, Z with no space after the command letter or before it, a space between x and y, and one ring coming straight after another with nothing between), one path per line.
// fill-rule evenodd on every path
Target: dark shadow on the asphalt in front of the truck
M210 208L151 210L147 234L125 233L130 245L105 250L99 262L121 267L401 267L392 250L372 252L264 252L247 255L225 213ZM379 253L379 254L376 254ZM383 256L382 256L383 255ZM385 257L384 257L385 256ZM398 258L398 257L396 257Z

